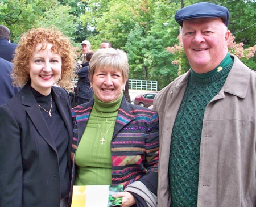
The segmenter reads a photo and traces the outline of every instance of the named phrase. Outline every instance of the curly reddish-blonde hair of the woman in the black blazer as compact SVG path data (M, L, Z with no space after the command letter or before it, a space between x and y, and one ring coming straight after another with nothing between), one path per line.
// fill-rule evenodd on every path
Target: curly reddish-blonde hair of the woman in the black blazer
M22 87L30 80L28 74L30 58L38 44L42 44L42 49L46 49L48 43L53 45L52 52L59 54L61 57L61 78L57 81L57 84L64 88L71 87L72 78L74 77L75 49L68 37L56 28L30 29L20 37L18 47L15 50L14 68L11 74L15 85Z

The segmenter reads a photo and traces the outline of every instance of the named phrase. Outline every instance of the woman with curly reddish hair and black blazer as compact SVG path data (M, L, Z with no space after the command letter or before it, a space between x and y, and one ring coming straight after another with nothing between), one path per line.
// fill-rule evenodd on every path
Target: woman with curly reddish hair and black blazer
M64 88L73 54L56 29L31 29L19 41L12 78L22 90L0 106L1 206L67 206L72 119Z

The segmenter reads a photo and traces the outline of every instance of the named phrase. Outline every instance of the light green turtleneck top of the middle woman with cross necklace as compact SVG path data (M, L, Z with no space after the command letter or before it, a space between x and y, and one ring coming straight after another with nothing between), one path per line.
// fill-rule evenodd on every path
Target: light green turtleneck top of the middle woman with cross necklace
M94 95L94 105L76 150L75 185L110 185L112 155L110 143L123 94L105 103ZM101 141L102 137L105 141Z

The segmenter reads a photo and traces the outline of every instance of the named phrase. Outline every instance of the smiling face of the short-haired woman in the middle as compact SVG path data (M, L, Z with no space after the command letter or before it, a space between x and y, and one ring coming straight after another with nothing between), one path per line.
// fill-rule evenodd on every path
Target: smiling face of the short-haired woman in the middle
M121 71L111 67L96 69L91 80L91 85L97 99L102 102L117 100L125 88L126 80Z

